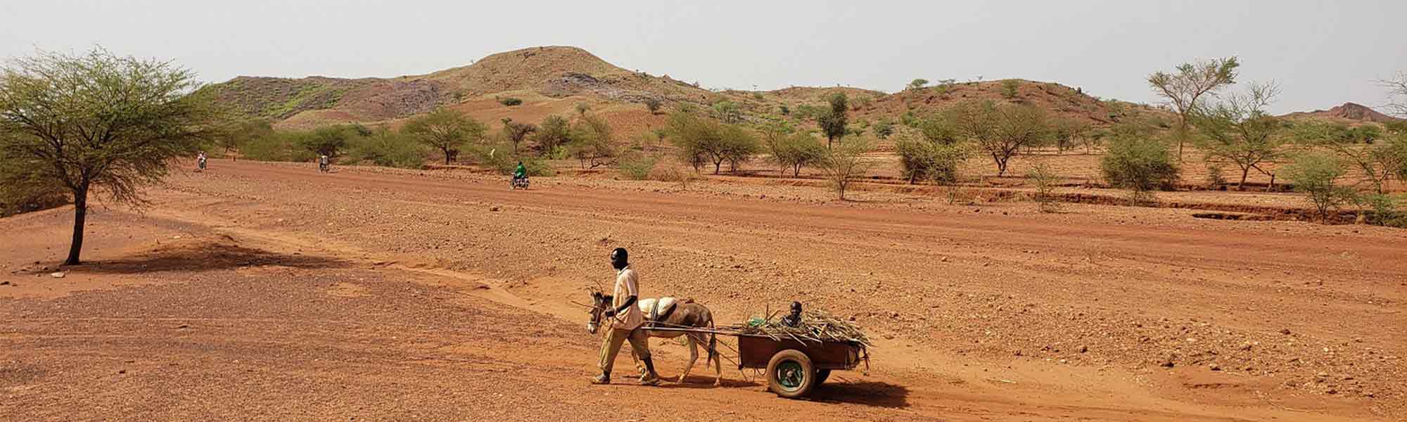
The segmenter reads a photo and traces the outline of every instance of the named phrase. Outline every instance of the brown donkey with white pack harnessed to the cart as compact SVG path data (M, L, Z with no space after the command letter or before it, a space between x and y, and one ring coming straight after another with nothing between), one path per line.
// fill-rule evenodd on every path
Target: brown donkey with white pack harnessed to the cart
M587 331L597 333L602 325L609 325L606 321L602 324L604 311L611 308L612 297L609 294L602 294L599 291L591 291L591 321L587 322ZM680 374L678 383L684 383L684 378L689 376L689 370L694 369L694 363L699 359L699 345L708 345L705 352L708 359L704 366L708 367L709 363L713 364L713 385L720 385L723 383L723 364L719 362L718 356L718 336L713 333L701 332L680 332L680 331L651 331L650 328L713 328L713 312L692 300L685 300L682 302L674 298L642 298L636 301L640 307L640 312L644 314L644 324L640 329L651 338L673 339L678 336L685 336L689 342L689 364L684 367L684 373ZM636 367L640 367L639 359L635 356L635 350L630 350L630 359L636 359ZM643 369L642 369L643 371Z

